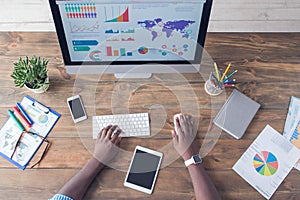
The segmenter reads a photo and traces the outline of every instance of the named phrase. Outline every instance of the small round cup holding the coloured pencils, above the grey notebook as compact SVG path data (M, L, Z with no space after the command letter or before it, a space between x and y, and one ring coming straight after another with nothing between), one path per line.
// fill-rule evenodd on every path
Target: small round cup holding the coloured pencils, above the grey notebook
M225 86L222 82L218 80L215 72L211 72L208 80L204 84L204 89L207 94L211 96L216 96L224 91Z

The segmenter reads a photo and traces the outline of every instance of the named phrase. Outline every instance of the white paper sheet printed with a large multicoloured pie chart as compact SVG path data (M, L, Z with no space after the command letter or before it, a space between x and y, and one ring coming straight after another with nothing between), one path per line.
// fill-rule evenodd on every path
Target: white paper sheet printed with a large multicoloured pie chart
M300 150L267 125L233 170L270 199L300 158Z

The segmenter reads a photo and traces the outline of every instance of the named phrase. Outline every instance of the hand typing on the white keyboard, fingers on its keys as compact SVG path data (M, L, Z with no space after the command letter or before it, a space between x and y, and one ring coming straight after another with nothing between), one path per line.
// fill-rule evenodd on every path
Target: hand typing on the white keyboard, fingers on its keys
M112 135L115 131L116 133ZM103 128L96 140L93 157L104 165L107 165L118 154L121 138L121 129L117 126L109 125Z

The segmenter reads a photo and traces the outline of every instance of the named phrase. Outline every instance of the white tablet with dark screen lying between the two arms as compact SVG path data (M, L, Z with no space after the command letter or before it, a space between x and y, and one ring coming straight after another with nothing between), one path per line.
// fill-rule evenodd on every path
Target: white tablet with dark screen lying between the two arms
M124 186L151 194L163 154L136 146L124 181Z

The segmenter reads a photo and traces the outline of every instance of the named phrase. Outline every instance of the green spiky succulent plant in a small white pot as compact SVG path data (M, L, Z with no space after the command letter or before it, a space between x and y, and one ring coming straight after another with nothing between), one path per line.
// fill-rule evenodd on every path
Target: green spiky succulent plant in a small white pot
M25 59L19 58L19 61L14 63L14 70L11 77L14 79L16 87L27 89L35 93L43 93L49 87L49 77L47 71L48 60L33 56Z

